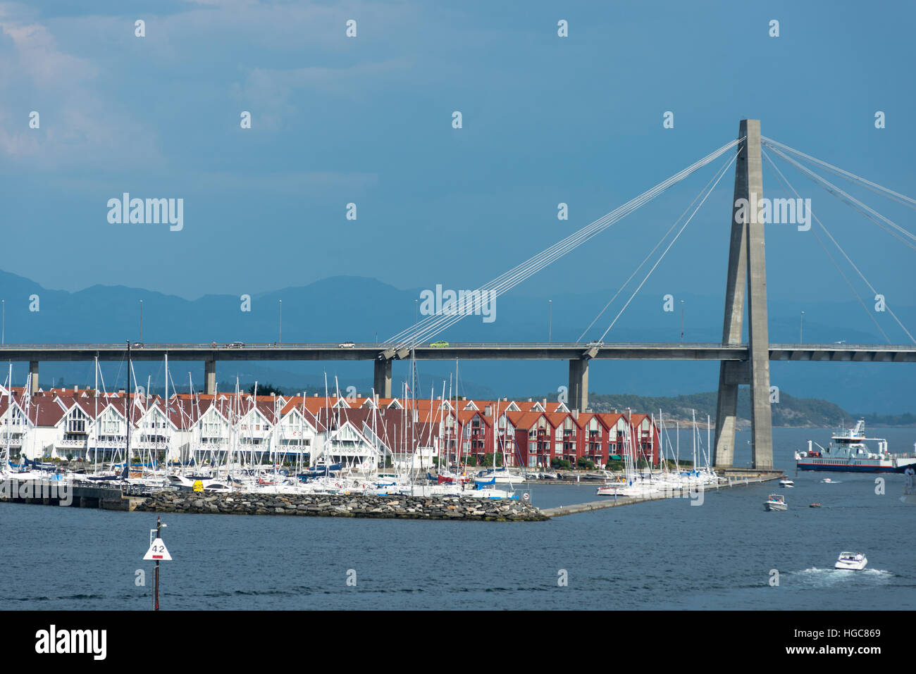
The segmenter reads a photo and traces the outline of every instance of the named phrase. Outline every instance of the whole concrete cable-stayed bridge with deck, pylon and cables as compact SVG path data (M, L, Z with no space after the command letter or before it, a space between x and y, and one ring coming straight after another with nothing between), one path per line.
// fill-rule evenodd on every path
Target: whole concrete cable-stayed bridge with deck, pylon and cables
M766 148L766 149L765 149ZM613 212L589 223L577 232L570 234L562 241L533 255L525 262L508 270L506 273L486 283L481 288L467 293L466 297L453 302L453 306L442 307L442 311L418 321L405 330L398 332L382 343L313 343L313 344L144 344L132 350L135 360L160 360L168 354L172 360L198 360L204 363L205 391L213 393L216 384L216 361L228 360L372 360L375 365L375 390L383 397L391 396L392 364L395 360L413 358L417 360L435 359L562 359L569 361L569 400L571 408L584 409L588 405L588 364L594 359L692 359L719 361L718 404L716 410L714 463L716 466L731 466L734 459L736 406L738 386L750 386L751 392L751 447L753 463L758 469L771 469L773 466L772 424L770 409L769 362L777 361L823 361L823 362L916 362L916 339L900 322L897 315L886 307L887 314L897 322L906 333L910 344L891 344L887 333L881 328L875 316L868 310L866 302L859 296L849 278L843 273L836 259L829 253L820 234L823 232L839 251L849 266L855 270L862 282L878 295L874 286L868 281L853 259L835 240L821 220L810 216L818 224L819 230L814 236L824 252L830 257L845 282L856 294L856 299L878 332L885 337L888 344L850 345L850 344L770 344L767 310L766 254L764 230L768 223L766 208L758 211L757 205L767 200L763 198L762 165L766 159L774 169L781 184L791 194L801 200L785 175L780 171L767 149L789 162L816 184L827 190L838 200L843 201L857 212L866 216L881 229L894 236L902 245L916 250L916 235L900 227L881 213L840 189L834 183L817 174L802 162L814 164L834 175L854 182L860 186L896 201L909 208L916 209L916 200L893 190L883 188L877 183L860 178L842 168L834 167L821 159L785 146L775 140L760 135L758 120L742 120L736 140L719 147L714 152L694 162L691 166L660 182L655 187L643 192L633 200L627 201ZM725 158L716 170L712 179L692 201L671 228L642 260L633 274L605 305L592 324L583 332L589 332L594 324L618 297L631 281L647 267L647 271L636 283L629 298L617 311L601 337L593 342L549 342L549 343L457 343L435 342L443 332L465 316L479 314L483 303L515 288L527 278L537 274L545 266L551 265L563 255L588 242L597 234L619 222L631 212L655 197L672 185L681 182L695 171L719 158ZM605 343L605 337L614 328L630 302L636 297L640 288L646 283L652 272L660 265L664 256L671 250L694 215L703 206L709 195L725 177L728 169L735 164L735 187L733 212L730 227L730 245L728 267L725 277L725 312L723 337L720 343ZM791 199L772 200L773 210L779 208L783 214L795 213L796 202ZM769 202L766 204L769 206ZM770 213L771 215L771 213ZM666 245L667 241L667 245ZM658 255L657 255L658 254ZM649 261L656 256L653 264ZM747 342L743 342L745 313L747 310ZM40 361L83 361L97 358L103 361L119 361L125 357L125 345L122 344L8 344L0 346L0 358L9 361L27 361L29 363L29 386L38 388L38 364Z

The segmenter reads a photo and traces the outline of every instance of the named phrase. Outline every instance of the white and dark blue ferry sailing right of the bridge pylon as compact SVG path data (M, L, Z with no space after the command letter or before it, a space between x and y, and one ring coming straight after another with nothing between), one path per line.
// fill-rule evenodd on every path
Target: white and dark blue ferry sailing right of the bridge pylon
M878 443L878 451L872 451L866 442ZM814 445L817 445L816 450ZM916 454L891 454L888 440L867 438L865 419L859 419L854 429L835 433L826 448L808 440L808 451L795 452L795 467L802 471L903 473L907 466L913 465L916 465Z

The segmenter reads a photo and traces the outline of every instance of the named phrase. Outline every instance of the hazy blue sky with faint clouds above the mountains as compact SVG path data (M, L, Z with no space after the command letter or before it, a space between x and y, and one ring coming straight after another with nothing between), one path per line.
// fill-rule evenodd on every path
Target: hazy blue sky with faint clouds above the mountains
M477 288L747 117L916 196L914 18L906 2L0 3L0 269L185 299L337 275ZM610 296L719 164L519 291ZM916 303L916 251L778 164L889 304ZM916 230L913 211L848 189ZM724 292L731 190L728 174L645 292ZM768 167L764 190L784 196ZM180 231L110 223L124 192L183 200ZM811 233L767 236L771 302L854 299Z

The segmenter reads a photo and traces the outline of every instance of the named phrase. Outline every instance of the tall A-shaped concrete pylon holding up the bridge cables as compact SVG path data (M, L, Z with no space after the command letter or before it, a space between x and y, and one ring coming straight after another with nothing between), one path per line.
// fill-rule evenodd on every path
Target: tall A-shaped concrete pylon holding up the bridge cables
M755 468L773 467L773 419L769 404L769 330L767 326L767 265L764 223L758 223L763 199L760 122L741 120L735 165L731 244L725 285L722 343L740 344L747 299L748 362L719 366L719 396L715 408L713 462L729 467L735 460L737 387L747 372L750 384L751 456ZM747 290L746 290L747 288ZM747 370L744 370L747 368ZM743 370L743 371L739 371Z

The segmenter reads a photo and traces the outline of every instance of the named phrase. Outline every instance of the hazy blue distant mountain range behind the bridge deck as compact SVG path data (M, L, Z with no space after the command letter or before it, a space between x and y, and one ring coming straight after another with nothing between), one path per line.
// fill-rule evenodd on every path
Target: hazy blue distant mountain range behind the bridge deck
M232 269L221 270L216 266L214 274L226 278L227 288L236 285ZM132 284L143 285L143 277L138 276ZM67 292L42 288L27 278L0 272L0 299L5 300L3 337L6 343L140 341L140 300L143 300L143 342L277 342L279 300L282 300L283 342L383 342L412 324L424 288L402 290L373 278L330 277L300 288L252 294L249 311L242 310L244 288L235 289L237 293L199 299L182 299L125 286L93 286ZM553 296L549 313L548 298L532 298L516 290L496 299L495 321L484 322L480 316L469 316L437 339L547 341L550 331L555 342L577 341L614 291L588 289ZM34 296L38 296L37 302ZM616 322L614 330L605 336L605 342L678 342L681 299L684 300L684 341L721 341L722 298L683 294L675 300L673 311L665 311L663 293L644 288ZM620 306L622 302L618 298L583 339L600 337ZM804 342L884 343L855 301L812 303L772 298L770 342L798 342L802 310ZM916 309L895 306L894 310L905 325L916 325ZM184 390L189 386L189 371L193 386L201 386L202 369L202 364L190 363L169 367L175 386ZM568 366L562 361L463 361L457 365L457 384L455 369L454 363L420 362L420 396L442 395L443 381L446 396L451 381L453 391L457 387L461 395L469 397L527 397L530 391L558 391L568 381ZM102 370L107 388L125 386L125 364L104 364ZM15 364L14 383L23 383L26 372L27 364ZM161 390L162 364L136 363L135 372L141 383L148 379L154 391ZM332 391L335 375L342 393L347 386L368 393L372 386L369 363L217 364L219 380L232 382L232 386L238 376L245 385L257 380L293 390L305 387L310 392L323 392L325 373ZM396 363L396 390L408 375L408 364ZM916 410L914 375L913 364L770 364L771 383L780 390L791 391L798 397L830 400L854 412L872 410L881 415ZM589 376L589 389L595 393L628 391L637 396L672 397L714 390L718 364L593 361ZM93 377L92 363L43 363L39 381L43 386L60 383L61 379L82 385L92 384ZM0 380L4 378L0 376Z

